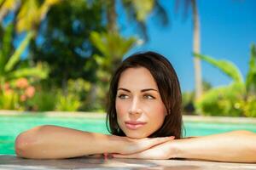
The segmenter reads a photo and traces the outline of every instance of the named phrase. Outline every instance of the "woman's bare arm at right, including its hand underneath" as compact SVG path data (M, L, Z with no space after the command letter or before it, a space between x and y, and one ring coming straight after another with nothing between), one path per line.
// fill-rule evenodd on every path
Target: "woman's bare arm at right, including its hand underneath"
M114 157L142 159L187 158L208 161L256 162L256 134L248 131L177 139L131 155Z

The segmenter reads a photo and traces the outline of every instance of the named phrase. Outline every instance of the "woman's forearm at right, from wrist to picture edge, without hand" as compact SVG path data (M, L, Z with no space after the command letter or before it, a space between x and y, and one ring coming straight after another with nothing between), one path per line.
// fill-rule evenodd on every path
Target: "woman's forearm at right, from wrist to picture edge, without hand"
M235 131L172 141L175 157L211 161L256 162L256 135Z

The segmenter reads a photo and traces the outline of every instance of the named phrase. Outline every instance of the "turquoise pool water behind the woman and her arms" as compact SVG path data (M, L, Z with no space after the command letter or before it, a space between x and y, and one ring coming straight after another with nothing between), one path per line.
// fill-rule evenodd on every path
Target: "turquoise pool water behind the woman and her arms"
M16 136L38 125L57 125L79 130L108 133L104 118L66 116L0 116L0 154L15 154ZM249 130L256 133L255 123L184 122L185 136L203 136L232 130Z

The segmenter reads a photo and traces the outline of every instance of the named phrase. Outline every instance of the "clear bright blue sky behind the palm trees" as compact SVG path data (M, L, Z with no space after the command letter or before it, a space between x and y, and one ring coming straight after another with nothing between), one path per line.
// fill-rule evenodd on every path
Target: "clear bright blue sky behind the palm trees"
M177 71L183 91L194 89L194 64L191 55L192 19L183 20L183 8L174 12L174 0L162 0L172 24L157 26L154 17L148 16L149 41L137 46L137 51L153 50L168 58ZM198 0L201 21L201 54L215 59L228 59L240 69L243 77L247 74L250 45L256 43L256 1L254 0ZM123 15L123 14L120 14ZM121 20L124 17L120 17ZM134 34L134 26L121 24L124 35ZM128 54L128 55L129 55ZM202 77L212 84L221 86L230 83L230 78L206 62L201 62Z

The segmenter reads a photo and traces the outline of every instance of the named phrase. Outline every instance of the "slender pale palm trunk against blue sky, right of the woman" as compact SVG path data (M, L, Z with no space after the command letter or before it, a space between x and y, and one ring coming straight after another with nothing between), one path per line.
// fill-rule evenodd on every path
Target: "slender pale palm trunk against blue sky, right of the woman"
M193 9L193 51L196 54L200 54L200 20L199 14L196 7L196 0L191 0L192 9ZM198 100L201 98L202 94L202 81L201 81L201 62L197 57L194 58L195 66L195 99Z

